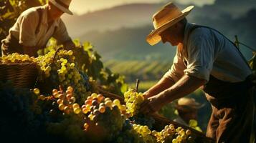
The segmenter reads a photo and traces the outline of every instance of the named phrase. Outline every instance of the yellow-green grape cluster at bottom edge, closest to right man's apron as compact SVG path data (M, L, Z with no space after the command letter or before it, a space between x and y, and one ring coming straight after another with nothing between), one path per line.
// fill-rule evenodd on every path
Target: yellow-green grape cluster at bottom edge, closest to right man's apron
M151 133L156 137L157 142L194 142L194 138L191 137L191 130L182 127L175 128L174 124L166 125L161 132L153 130Z

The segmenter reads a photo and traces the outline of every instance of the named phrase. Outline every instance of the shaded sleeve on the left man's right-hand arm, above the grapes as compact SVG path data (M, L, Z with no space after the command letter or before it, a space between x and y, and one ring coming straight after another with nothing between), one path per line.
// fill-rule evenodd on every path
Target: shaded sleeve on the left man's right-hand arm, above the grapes
M65 43L65 41L71 40L70 36L67 33L67 28L62 19L59 20L59 24L52 36L54 37L54 39L57 39L58 44L63 44Z

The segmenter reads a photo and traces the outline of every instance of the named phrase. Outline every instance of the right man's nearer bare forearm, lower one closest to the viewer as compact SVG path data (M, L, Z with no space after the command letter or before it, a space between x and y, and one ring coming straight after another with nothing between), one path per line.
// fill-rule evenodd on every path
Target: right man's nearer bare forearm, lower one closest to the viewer
M194 92L205 83L206 80L204 79L184 75L176 84L156 96L166 104Z

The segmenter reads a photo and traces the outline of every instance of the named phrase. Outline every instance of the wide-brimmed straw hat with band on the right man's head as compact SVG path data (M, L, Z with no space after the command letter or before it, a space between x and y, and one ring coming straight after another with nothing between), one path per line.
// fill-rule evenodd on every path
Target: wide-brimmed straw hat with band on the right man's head
M153 26L155 29L146 37L148 44L153 46L161 41L161 36L159 36L159 34L168 29L170 26L173 26L177 22L181 21L181 19L184 19L184 17L187 16L193 8L194 6L189 6L181 11L172 2L163 6L160 11L153 14Z

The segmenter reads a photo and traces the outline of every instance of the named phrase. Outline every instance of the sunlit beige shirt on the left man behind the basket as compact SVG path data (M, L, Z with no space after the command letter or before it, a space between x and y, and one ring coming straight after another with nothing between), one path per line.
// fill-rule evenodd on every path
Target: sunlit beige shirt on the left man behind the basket
M42 20L39 25L39 32L36 29L39 23L39 13L37 9L42 8ZM62 44L70 40L67 29L62 19L55 20L52 25L48 25L47 21L47 5L32 7L24 11L16 20L14 26L11 27L9 33L23 46L42 47L53 36L58 43Z

